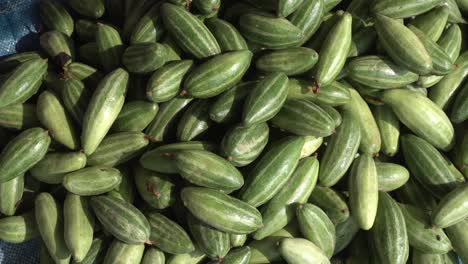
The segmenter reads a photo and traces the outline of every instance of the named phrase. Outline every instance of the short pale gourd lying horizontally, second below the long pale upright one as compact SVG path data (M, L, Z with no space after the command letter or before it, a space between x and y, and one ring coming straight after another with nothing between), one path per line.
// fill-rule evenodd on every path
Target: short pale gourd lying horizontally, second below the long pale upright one
M63 186L67 191L81 196L99 195L116 188L122 181L118 169L94 166L67 173Z

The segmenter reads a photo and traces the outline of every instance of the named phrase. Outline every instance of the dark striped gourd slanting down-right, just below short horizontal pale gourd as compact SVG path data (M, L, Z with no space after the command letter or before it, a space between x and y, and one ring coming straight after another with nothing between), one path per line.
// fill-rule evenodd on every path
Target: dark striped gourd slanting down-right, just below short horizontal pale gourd
M99 222L117 239L129 244L148 241L148 220L132 204L104 195L91 197L90 204Z

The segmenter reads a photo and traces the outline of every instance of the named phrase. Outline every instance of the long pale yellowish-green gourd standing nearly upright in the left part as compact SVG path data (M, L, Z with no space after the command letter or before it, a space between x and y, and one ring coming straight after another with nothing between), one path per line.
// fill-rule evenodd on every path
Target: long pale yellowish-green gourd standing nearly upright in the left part
M124 104L128 73L116 69L99 82L83 117L81 144L87 155L96 151Z

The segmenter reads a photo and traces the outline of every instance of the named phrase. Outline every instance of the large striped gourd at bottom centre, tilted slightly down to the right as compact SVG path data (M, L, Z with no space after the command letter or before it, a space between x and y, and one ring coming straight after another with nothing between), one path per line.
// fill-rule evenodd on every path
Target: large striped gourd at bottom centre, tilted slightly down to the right
M246 234L262 225L262 216L255 207L222 192L186 187L181 196L196 218L221 231Z

